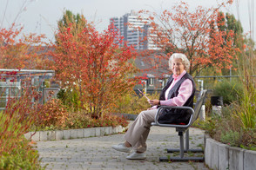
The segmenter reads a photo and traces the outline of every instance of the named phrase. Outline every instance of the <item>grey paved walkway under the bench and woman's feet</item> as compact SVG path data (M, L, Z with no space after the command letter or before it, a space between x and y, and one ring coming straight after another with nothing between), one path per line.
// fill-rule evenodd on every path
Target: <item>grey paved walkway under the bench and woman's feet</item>
M190 128L191 148L203 145L204 134L197 128ZM146 160L126 160L128 154L111 149L124 141L124 134L73 139L63 141L38 141L37 150L46 169L203 169L203 162L159 162L159 156L166 156L167 147L179 147L179 136L175 128L152 127L147 145Z

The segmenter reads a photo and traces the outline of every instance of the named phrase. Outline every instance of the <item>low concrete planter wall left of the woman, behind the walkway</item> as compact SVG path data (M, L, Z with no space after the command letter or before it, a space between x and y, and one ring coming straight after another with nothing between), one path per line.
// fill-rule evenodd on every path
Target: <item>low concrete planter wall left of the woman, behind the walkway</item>
M53 141L53 140L70 140L77 138L87 138L95 136L103 136L107 134L118 134L124 132L126 127L92 127L70 130L56 131L37 131L24 134L26 139L32 141ZM32 135L32 136L31 136Z

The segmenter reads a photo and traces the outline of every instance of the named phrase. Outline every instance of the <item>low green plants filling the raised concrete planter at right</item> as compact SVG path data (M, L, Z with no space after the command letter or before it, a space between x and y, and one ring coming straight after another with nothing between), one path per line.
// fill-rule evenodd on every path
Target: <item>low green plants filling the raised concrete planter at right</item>
M214 140L226 143L232 147L243 147L256 150L256 128L245 127L243 120L237 115L238 104L226 105L220 115L207 117L200 121L201 128Z

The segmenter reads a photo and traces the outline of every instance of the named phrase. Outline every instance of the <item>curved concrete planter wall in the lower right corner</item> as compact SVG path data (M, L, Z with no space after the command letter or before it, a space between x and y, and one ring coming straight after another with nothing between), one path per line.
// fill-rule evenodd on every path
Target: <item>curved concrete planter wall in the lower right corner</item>
M254 170L256 151L229 147L205 134L205 164L214 170Z

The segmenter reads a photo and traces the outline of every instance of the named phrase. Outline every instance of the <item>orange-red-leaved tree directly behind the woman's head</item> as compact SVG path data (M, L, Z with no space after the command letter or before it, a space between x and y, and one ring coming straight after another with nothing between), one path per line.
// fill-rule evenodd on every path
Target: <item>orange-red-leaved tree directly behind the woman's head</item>
M229 1L228 3L232 3ZM219 8L224 6L221 3L218 8L203 8L199 6L196 10L190 11L187 3L181 2L172 8L172 11L165 10L161 15L149 11L140 11L150 15L152 26L152 41L163 50L162 56L145 59L154 62L156 69L164 67L168 69L166 62L174 52L185 53L191 62L189 73L198 75L206 67L214 69L229 69L232 67L232 56L239 49L233 47L232 31L218 29ZM220 26L220 25L219 25Z

